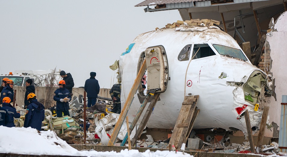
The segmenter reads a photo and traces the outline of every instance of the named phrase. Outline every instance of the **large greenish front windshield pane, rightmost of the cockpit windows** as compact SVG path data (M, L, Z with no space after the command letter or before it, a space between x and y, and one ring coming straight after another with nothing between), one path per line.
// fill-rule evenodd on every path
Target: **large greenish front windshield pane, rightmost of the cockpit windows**
M247 60L247 58L244 56L244 54L242 53L240 49L230 48L228 46L217 45L217 44L213 44L213 47L221 55L225 55L228 57L234 57L234 58L238 58L241 60Z

